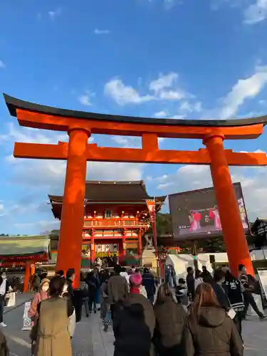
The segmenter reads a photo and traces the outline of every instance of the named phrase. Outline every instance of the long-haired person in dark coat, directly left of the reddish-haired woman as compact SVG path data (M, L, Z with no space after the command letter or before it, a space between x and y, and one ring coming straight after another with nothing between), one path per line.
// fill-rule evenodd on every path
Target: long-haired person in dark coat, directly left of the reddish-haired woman
M184 355L187 315L182 304L174 301L172 290L163 283L154 305L156 328L154 343L159 356Z

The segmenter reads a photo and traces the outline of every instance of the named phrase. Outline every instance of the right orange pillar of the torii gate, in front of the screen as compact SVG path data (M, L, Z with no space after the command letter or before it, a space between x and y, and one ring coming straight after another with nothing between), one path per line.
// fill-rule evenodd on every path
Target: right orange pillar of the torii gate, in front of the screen
M236 201L234 187L231 182L231 174L224 152L224 136L210 135L204 140L211 159L211 177L214 184L214 192L218 204L221 227L226 244L231 272L237 276L240 263L246 266L246 270L254 275L251 256L248 251L248 243Z

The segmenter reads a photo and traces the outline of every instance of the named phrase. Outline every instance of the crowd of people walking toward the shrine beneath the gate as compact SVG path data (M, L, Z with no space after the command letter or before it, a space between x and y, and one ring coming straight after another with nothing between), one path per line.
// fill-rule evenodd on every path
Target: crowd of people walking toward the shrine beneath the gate
M167 278L159 286L148 268L126 270L117 264L112 272L95 266L81 273L78 290L74 279L73 270L66 277L58 271L51 281L41 278L28 311L32 355L72 355L71 338L83 308L87 318L100 311L103 330L112 328L114 356L241 356L248 305L265 318L253 300L257 283L243 265L239 278L227 266L212 275L205 267L189 267L186 280ZM8 350L5 338L2 350Z

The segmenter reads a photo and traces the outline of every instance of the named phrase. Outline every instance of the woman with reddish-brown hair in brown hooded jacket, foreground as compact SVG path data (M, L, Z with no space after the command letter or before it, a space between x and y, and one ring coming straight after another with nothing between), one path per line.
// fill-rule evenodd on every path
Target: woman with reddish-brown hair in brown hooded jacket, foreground
M191 338L187 356L243 356L244 346L236 325L219 305L209 283L197 287L187 323Z

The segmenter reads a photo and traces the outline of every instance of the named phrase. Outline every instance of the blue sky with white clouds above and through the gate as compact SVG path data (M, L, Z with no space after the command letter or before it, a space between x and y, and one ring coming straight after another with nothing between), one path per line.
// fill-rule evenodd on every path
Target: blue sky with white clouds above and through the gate
M266 0L1 1L0 93L44 105L117 115L228 119L267 113ZM64 162L14 159L14 142L58 142L19 127L0 100L0 233L57 226L47 194L63 192ZM226 142L267 150L258 140ZM98 145L138 147L130 137ZM194 150L198 140L162 140ZM266 217L265 168L231 169L250 219ZM89 179L145 179L151 195L209 187L209 167L88 164Z

